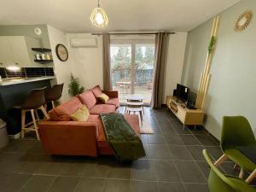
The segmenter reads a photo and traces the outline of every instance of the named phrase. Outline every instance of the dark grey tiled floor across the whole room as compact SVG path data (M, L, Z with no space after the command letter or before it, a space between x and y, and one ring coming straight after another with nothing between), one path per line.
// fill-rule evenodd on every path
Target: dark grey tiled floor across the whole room
M218 142L207 131L183 130L166 108L146 108L145 121L154 129L141 136L147 156L126 165L114 157L49 156L36 140L11 141L0 151L0 191L208 192L201 150L217 159ZM232 166L224 170L234 172Z

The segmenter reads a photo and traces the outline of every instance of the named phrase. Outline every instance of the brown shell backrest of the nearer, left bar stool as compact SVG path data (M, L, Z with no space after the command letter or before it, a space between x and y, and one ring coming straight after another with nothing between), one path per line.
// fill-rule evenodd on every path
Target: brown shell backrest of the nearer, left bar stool
M43 106L45 103L45 89L46 87L32 90L26 97L26 101L21 105L21 108L34 109Z

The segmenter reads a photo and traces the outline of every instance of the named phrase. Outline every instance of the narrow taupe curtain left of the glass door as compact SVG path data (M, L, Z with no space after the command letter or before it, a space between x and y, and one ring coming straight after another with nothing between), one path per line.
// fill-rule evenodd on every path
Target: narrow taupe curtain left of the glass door
M110 77L110 35L102 34L103 90L112 90Z

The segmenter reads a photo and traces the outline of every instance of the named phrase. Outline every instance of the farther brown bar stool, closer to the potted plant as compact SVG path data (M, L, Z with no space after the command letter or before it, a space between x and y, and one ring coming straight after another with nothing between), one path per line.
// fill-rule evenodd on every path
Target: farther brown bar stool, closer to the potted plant
M44 108L47 110L47 103L51 102L52 108L55 108L55 102L62 96L64 84L55 84L52 88L45 91L45 104Z

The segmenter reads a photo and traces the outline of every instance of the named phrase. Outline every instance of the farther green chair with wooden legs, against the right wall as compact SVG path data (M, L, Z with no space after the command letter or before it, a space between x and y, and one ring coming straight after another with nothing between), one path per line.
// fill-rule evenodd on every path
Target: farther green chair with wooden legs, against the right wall
M253 172L256 165L251 160L248 160L244 154L241 154L237 147L252 145L256 145L256 142L252 128L247 119L242 116L224 116L220 140L220 147L224 154L214 165L219 166L225 160L230 159L238 166L241 166L239 177L242 178L244 170Z

